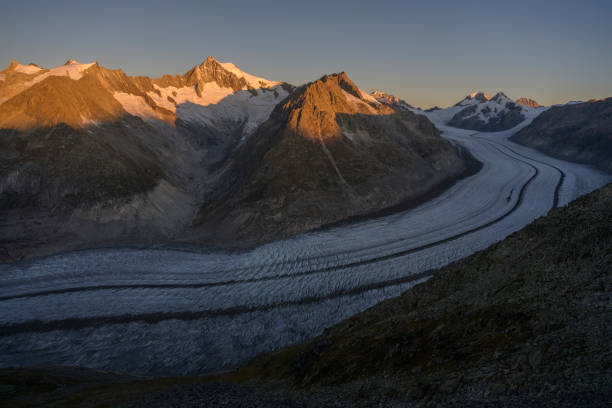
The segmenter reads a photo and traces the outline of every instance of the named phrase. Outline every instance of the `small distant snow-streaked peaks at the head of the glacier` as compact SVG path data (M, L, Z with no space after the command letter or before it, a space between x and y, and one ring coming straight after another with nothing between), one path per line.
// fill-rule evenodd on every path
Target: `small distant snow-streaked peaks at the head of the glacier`
M510 129L525 120L529 108L514 103L504 93L490 98L483 92L473 93L455 106L466 106L447 123L461 129L497 132Z

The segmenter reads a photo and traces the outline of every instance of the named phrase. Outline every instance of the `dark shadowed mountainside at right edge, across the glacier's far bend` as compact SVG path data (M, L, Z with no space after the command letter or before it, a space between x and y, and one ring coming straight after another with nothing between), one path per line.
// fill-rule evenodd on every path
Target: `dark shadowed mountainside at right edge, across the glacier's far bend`
M553 106L511 140L612 173L612 98Z

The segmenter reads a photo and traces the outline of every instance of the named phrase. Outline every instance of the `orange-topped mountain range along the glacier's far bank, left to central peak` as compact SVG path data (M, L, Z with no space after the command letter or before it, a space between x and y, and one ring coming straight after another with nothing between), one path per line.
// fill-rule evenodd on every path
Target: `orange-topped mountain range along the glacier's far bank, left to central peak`
M0 138L5 259L258 244L414 205L479 166L345 73L295 88L212 57L161 78L13 61L0 72Z

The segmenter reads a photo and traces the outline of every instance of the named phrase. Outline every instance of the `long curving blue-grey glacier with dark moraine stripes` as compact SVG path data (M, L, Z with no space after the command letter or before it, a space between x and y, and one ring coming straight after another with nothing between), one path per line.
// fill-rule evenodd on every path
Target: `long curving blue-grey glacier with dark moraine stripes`
M105 248L0 265L0 366L140 375L229 369L311 338L610 181L593 168L444 126L483 168L409 211L248 251Z

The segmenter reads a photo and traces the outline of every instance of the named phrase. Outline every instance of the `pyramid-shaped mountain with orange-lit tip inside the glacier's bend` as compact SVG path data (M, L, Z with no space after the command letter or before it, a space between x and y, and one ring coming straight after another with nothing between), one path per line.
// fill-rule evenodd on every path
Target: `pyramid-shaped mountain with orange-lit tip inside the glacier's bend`
M328 75L298 88L238 149L198 229L263 242L416 203L476 168L424 116Z

